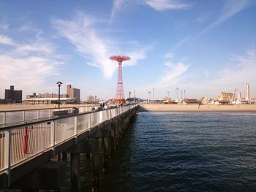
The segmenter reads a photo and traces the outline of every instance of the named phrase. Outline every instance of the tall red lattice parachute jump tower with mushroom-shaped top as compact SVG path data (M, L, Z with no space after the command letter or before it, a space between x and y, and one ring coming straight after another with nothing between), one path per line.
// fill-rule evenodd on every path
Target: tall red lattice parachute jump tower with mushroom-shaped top
M125 55L115 55L110 57L112 61L118 62L118 77L117 77L117 87L116 87L116 98L115 103L116 104L125 104L124 99L124 87L123 87L123 75L122 75L122 69L121 64L123 61L127 61L130 58Z

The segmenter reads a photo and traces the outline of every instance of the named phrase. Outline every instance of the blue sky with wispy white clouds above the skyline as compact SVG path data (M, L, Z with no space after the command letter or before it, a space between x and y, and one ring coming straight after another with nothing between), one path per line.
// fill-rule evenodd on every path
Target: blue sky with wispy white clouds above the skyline
M81 99L213 99L235 88L256 98L255 0L0 0L0 98L80 88ZM177 89L178 88L178 89ZM148 93L151 91L151 93Z

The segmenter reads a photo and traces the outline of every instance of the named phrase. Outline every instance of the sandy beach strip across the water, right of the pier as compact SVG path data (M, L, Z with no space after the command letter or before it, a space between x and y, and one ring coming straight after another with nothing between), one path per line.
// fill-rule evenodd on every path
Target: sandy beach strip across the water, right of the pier
M140 110L151 112L256 112L255 104L200 105L196 104L143 104Z

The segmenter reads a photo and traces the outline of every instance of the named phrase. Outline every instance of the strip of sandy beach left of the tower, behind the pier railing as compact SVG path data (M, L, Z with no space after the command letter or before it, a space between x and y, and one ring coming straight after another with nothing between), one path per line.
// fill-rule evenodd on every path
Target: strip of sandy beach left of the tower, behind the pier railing
M88 107L91 104L61 104L61 108L65 107ZM58 108L58 104L0 104L0 111L13 110L38 110Z

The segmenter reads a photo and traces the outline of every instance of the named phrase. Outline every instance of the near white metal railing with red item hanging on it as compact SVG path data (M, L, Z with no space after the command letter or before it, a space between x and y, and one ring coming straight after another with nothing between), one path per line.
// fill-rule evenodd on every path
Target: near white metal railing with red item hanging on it
M12 166L44 151L54 151L57 145L128 110L129 106L118 107L0 128L0 174L9 174Z

